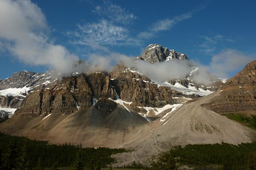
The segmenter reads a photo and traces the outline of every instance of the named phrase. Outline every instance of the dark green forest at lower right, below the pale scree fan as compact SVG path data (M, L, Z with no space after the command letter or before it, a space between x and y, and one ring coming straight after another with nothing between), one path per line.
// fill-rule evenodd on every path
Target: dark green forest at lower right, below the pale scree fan
M156 167L154 165L160 167L162 164L167 167L168 164L173 164L172 162L175 161L177 164L192 165L197 168L216 165L223 170L245 170L250 164L249 169L256 170L256 142L238 146L227 143L178 146L161 154L159 160L151 164L153 168ZM174 170L174 168L172 169Z

